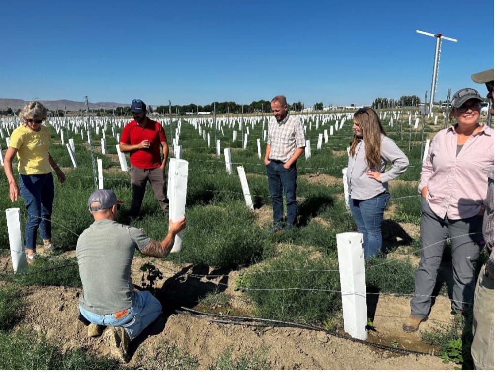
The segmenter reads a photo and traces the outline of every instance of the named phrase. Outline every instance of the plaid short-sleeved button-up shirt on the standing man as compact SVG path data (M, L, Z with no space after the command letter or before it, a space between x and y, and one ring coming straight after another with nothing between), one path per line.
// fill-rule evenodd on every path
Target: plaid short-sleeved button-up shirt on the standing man
M287 114L281 122L275 117L268 124L268 141L270 160L287 162L296 149L306 147L304 127L295 117Z

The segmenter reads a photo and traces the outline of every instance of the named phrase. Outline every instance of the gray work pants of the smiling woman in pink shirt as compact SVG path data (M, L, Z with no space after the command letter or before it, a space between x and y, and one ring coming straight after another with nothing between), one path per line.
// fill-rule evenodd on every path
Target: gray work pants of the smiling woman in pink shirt
M473 302L476 285L474 262L480 254L482 222L481 215L458 220L441 218L431 210L427 200L421 198L421 260L411 299L411 315L425 318L430 312L431 295L437 283L447 238L450 238L452 255L451 307L455 311L468 309L469 303Z

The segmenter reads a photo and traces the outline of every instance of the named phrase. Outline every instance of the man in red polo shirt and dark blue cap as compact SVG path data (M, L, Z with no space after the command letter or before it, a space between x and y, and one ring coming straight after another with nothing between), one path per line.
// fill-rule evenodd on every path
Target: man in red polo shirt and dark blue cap
M131 112L134 120L122 129L119 144L121 152L130 153L132 202L129 217L139 216L148 181L158 204L167 212L164 172L168 160L168 144L165 131L160 123L148 119L146 104L142 100L132 101ZM163 154L163 158L160 154Z

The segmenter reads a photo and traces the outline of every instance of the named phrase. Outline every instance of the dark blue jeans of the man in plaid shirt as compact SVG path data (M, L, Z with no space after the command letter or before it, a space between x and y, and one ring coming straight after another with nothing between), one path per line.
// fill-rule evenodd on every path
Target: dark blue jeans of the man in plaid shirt
M287 203L287 225L288 227L296 226L297 201L296 201L296 164L289 169L284 168L284 163L271 160L266 165L268 175L268 186L272 197L273 206L273 224L280 225L283 223L284 200L282 198L282 189L285 191L285 200Z

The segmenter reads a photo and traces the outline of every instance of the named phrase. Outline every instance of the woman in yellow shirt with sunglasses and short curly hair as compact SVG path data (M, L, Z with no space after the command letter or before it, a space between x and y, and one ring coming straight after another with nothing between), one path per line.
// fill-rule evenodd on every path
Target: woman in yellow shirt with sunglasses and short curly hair
M19 193L28 210L26 223L26 256L31 262L36 255L38 228L46 249L51 249L51 208L53 205L53 177L55 170L58 182L65 175L48 152L50 134L42 123L47 119L47 109L38 101L27 103L19 114L22 125L10 136L10 145L5 153L5 174L8 179L10 200L17 201ZM19 160L19 184L15 182L12 159Z

